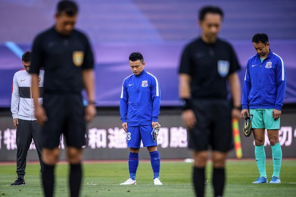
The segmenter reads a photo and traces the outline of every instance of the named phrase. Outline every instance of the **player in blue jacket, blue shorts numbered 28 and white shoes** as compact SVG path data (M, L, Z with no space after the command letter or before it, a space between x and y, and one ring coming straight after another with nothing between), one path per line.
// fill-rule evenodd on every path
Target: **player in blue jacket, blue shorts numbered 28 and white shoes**
M155 76L144 70L141 53L129 56L132 75L124 79L120 96L120 119L127 133L129 147L128 169L130 178L120 185L136 185L136 171L139 165L141 140L150 154L155 185L162 185L159 179L160 156L157 140L153 141L152 129L158 126L160 113L160 87Z

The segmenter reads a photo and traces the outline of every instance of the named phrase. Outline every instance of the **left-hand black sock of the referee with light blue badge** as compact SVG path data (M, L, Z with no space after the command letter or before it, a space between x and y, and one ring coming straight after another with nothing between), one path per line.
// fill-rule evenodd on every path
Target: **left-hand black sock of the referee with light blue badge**
M205 191L205 168L194 167L193 168L193 184L197 197L203 197Z

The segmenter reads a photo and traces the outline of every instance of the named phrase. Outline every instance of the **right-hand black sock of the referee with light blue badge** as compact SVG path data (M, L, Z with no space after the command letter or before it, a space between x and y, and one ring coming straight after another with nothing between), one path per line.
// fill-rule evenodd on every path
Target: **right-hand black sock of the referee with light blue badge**
M222 196L225 183L225 169L213 168L213 186L215 196Z

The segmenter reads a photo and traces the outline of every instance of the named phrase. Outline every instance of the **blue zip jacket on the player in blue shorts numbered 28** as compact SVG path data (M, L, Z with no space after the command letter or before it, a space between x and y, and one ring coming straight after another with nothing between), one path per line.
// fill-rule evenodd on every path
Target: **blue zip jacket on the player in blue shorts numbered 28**
M158 122L160 86L155 76L143 70L124 79L120 96L120 119L128 126Z

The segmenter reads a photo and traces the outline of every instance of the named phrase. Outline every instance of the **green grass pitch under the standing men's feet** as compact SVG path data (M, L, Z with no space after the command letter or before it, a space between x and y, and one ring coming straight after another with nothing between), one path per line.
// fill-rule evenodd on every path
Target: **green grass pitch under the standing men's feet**
M56 169L55 196L69 196L68 165L59 164ZM272 160L266 161L268 181L272 175ZM211 184L212 165L209 162L205 185L206 195L213 196ZM160 180L163 185L153 185L150 162L140 160L137 185L119 185L128 178L127 162L86 163L83 165L81 196L194 196L191 183L192 164L163 160ZM229 160L226 164L224 196L295 196L296 159L283 160L281 184L252 184L258 177L256 162ZM9 186L15 181L15 165L0 165L0 196L42 196L38 164L28 164L25 186Z

